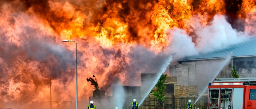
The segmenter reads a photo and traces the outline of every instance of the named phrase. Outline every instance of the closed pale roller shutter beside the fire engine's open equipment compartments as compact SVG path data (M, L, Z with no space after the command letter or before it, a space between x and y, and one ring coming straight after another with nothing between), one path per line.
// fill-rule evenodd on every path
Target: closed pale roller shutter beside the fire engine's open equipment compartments
M243 93L244 88L234 88L233 90L233 105L232 109L242 109L243 108Z

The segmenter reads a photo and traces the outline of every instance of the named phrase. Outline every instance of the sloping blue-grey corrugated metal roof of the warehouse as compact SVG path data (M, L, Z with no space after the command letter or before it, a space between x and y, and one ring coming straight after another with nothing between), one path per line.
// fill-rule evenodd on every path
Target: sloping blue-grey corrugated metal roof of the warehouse
M256 56L256 37L253 37L243 43L230 45L227 48L219 49L214 52L199 54L191 57L185 57L179 61L204 58L222 58L227 57L228 55L231 55L231 57Z

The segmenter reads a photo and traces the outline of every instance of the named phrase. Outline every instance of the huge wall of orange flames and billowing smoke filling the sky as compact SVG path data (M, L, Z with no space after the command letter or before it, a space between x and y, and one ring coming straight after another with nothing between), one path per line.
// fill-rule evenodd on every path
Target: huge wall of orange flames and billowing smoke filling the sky
M140 73L159 72L173 53L245 41L255 14L253 0L1 0L0 100L47 101L49 71L52 98L75 100L76 44L62 40L78 43L81 100L93 75L108 90L139 86Z

